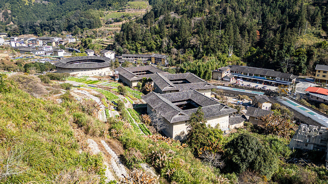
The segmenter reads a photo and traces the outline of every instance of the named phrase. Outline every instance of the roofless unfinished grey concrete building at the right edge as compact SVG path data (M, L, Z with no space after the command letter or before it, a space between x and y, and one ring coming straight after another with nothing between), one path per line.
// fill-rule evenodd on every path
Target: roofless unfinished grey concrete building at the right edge
M326 168L328 169L328 128L313 125L300 124L295 132L289 147L308 149L308 150L322 150L326 151Z

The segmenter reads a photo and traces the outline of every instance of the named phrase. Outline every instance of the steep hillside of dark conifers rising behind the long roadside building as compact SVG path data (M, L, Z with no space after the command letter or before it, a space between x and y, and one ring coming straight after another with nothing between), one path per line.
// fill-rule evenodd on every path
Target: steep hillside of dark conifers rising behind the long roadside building
M173 55L182 51L184 55L176 58L180 62L186 56L190 60L227 54L233 46L234 56L255 67L306 74L315 64L328 64L327 0L149 3L152 9L143 19L122 25L116 35L117 51Z

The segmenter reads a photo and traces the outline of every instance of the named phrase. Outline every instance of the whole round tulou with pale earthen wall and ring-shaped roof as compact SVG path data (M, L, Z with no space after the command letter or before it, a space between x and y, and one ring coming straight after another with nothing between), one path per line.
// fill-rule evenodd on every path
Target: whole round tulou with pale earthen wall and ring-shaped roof
M113 75L110 68L112 60L106 57L81 56L64 58L56 62L58 73L70 73L75 76Z

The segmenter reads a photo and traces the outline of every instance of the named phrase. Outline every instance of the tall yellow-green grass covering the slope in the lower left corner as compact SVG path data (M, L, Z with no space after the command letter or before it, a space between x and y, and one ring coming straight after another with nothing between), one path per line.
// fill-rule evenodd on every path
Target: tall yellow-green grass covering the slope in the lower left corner
M70 117L60 105L17 88L0 93L0 183L101 182L103 158L79 153ZM83 118L79 123L98 135L91 130L97 121Z

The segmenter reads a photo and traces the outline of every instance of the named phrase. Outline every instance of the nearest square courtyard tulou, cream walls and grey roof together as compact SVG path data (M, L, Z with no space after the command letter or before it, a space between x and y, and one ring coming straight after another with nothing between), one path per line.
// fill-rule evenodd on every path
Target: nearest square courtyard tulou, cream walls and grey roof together
M198 107L204 112L207 125L219 125L219 128L226 132L229 131L229 114L237 111L195 90L166 94L150 92L142 96L142 99L147 102L148 114L161 114L167 124L163 133L175 140L185 140L190 115L195 113Z

